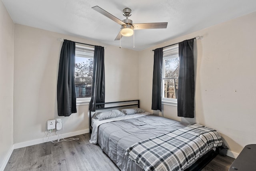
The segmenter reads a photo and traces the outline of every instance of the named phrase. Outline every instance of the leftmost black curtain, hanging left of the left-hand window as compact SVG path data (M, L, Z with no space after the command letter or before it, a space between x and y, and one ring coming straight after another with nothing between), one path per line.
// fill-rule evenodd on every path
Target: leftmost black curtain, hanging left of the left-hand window
M59 116L70 116L71 113L76 113L75 49L75 42L64 40L60 52L57 83Z

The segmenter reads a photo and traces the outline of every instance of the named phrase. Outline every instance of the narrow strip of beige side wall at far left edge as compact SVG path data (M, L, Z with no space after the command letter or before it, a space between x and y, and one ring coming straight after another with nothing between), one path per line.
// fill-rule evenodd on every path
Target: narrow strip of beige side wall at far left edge
M13 144L13 49L14 23L0 1L0 170Z

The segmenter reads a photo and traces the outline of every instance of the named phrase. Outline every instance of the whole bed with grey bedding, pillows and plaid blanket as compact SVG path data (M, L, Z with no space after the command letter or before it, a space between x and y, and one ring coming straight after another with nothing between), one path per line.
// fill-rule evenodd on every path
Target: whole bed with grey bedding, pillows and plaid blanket
M121 107L119 110L109 110L107 112L97 112L94 114L90 121L90 129L91 129L91 139L90 143L100 145L102 151L106 153L110 159L118 166L121 171L143 171L143 170L186 170L186 171L199 171L202 169L212 158L214 158L218 154L218 150L216 147L221 145L221 137L217 137L217 142L214 145L209 145L209 147L200 150L198 144L190 145L193 151L188 151L185 149L180 152L181 146L189 146L186 140L184 145L181 145L180 139L177 138L182 137L184 139L185 134L189 134L188 129L193 129L194 127L200 127L200 130L204 127L202 125L189 125L188 123L183 123L179 121L175 121L172 119L167 119L158 115L153 115L151 113L143 111L140 109L140 101L122 101L122 103L132 103L128 105L117 105L111 107L102 107L105 109ZM117 102L110 102L117 103ZM101 105L103 103L100 103ZM109 103L105 103L109 104ZM134 107L128 109L127 107ZM102 109L101 108L101 109ZM137 111L139 110L139 112ZM97 115L98 114L98 115ZM105 116L109 115L110 118L106 118ZM117 115L117 117L116 117ZM91 117L91 112L90 112ZM104 119L98 119L100 117L104 117ZM202 127L201 127L202 126ZM207 127L206 127L207 128ZM208 130L208 128L207 128ZM213 129L209 129L210 133L212 133ZM183 132L182 132L183 131ZM214 130L215 131L215 130ZM179 134L179 135L178 135ZM216 134L214 132L214 134ZM180 136L181 135L181 136ZM212 135L210 135L212 136ZM176 138L174 138L176 137ZM193 135L193 142L194 143ZM159 142L159 139L164 139L161 143L154 143L153 146L157 147L148 147L146 145L150 144L152 146L152 142ZM166 139L168 140L166 143ZM185 140L184 140L185 141ZM212 140L210 140L212 141ZM179 154L173 153L172 155L168 155L163 157L158 156L166 149L172 149L176 145L176 152ZM155 145L157 144L157 145ZM171 147L170 147L171 146ZM144 149L143 149L143 148ZM149 149L152 148L152 151ZM194 151L195 149L195 151ZM136 151L137 150L137 151ZM191 150L191 148L190 148ZM153 153L153 158L151 160L148 157L148 153ZM174 150L175 151L175 150ZM199 151L198 153L195 152ZM173 152L173 151L172 151ZM172 153L171 152L171 153ZM168 150L169 153L169 150ZM184 156L180 157L180 153L185 156L185 161L180 162L178 158L184 158ZM143 154L143 155L142 155ZM170 157L171 156L171 157ZM172 157L176 156L176 157ZM177 157L178 156L178 157ZM165 158L165 159L164 159ZM166 160L166 158L168 160ZM156 161L154 163L153 161ZM167 164L165 163L167 162ZM159 164L160 163L160 164Z

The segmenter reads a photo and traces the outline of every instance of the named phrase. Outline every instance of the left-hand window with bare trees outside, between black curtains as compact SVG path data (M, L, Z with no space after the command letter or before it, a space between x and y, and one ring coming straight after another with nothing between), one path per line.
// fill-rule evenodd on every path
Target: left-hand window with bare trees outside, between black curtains
M92 72L94 48L76 44L75 85L76 100L86 101L92 97Z

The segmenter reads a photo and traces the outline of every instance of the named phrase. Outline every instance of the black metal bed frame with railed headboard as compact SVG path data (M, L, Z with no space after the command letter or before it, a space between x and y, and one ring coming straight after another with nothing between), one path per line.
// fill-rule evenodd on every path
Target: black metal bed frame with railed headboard
M134 103L131 103L134 101ZM130 102L130 103L129 103ZM96 103L96 105L105 105L105 104L111 104L111 103L125 103L121 105L114 105L114 106L109 106L109 107L102 107L102 108L97 108L96 110L100 109L111 109L111 108L118 108L118 107L127 107L127 106L137 106L138 108L140 107L140 100L126 100L126 101L113 101L113 102L106 102L106 103ZM127 104L128 103L128 104ZM91 116L92 111L90 111L90 133L92 133L92 121L91 121ZM216 150L210 150L208 153L200 157L194 164L192 164L190 167L185 169L184 171L200 171L202 170L214 157L216 157L219 153L218 147L216 147Z

